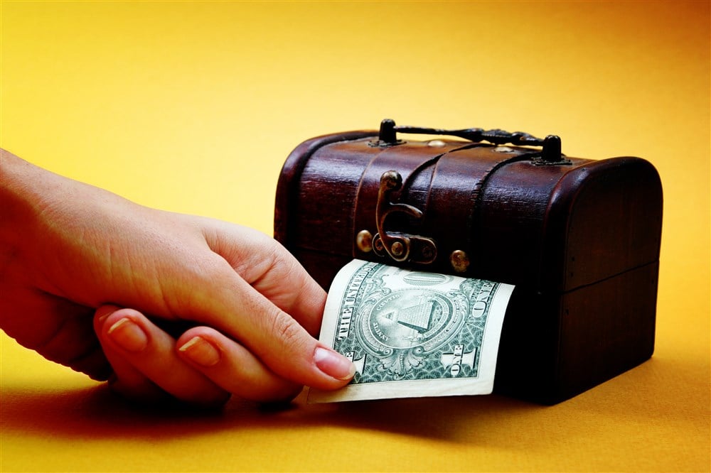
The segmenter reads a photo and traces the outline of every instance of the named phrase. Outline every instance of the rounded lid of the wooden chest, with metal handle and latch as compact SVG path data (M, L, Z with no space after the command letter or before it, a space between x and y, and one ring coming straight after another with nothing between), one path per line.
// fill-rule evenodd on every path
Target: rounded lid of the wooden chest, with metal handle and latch
M384 121L296 148L275 234L307 269L356 257L570 290L658 259L661 184L639 158L567 158L557 136Z

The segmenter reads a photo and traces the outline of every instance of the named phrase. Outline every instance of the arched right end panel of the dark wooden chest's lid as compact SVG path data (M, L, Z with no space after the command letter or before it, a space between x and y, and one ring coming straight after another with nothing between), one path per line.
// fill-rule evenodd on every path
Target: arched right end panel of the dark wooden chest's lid
M540 280L570 291L658 261L662 200L659 175L641 158L567 173L545 212Z

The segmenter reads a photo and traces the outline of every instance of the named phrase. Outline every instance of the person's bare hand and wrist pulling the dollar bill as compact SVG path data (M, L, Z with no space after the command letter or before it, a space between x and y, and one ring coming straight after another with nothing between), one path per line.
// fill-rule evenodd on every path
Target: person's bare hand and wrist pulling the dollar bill
M326 294L274 239L163 212L0 152L0 328L140 401L344 386Z

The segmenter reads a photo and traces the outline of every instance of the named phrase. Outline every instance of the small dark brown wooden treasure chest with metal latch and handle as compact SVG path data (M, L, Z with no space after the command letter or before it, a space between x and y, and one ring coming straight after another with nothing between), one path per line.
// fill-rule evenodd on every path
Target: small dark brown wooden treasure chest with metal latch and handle
M553 404L651 357L661 223L641 158L385 120L291 153L274 233L326 289L354 258L515 285L494 392Z

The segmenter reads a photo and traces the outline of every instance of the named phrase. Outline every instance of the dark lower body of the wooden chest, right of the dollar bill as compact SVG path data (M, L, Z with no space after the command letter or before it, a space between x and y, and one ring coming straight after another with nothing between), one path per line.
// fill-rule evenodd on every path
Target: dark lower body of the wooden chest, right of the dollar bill
M624 373L654 350L658 263L567 293L516 288L494 392L552 405Z

